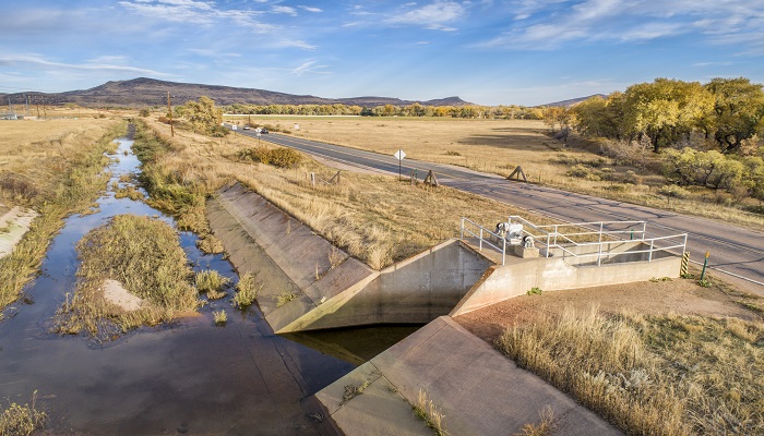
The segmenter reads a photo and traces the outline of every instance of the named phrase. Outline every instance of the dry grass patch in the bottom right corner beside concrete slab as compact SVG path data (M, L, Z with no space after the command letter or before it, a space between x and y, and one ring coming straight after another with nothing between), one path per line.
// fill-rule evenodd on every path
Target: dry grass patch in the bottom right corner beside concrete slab
M764 433L764 325L564 310L497 346L631 435Z

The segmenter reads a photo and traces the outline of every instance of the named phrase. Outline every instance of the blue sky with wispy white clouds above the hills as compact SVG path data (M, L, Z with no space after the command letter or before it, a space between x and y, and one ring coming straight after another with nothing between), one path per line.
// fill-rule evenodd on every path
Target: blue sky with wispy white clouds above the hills
M764 82L764 0L2 0L0 37L0 93L147 76L534 106L656 77Z

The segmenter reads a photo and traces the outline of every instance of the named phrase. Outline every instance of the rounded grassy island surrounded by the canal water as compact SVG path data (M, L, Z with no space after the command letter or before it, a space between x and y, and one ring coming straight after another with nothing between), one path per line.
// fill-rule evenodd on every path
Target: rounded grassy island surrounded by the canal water
M178 234L165 222L120 215L77 244L81 265L74 296L59 310L53 329L86 331L99 340L142 325L156 325L194 311L196 291ZM104 298L104 281L119 281L143 300L126 311Z

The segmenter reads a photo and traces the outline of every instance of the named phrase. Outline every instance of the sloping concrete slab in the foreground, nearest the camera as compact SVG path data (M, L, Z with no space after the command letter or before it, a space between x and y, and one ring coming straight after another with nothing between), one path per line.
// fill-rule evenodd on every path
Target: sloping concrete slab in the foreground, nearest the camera
M368 386L345 399L346 386ZM422 390L450 435L522 434L547 408L559 435L618 429L534 374L440 317L315 395L346 435L432 435L413 413Z

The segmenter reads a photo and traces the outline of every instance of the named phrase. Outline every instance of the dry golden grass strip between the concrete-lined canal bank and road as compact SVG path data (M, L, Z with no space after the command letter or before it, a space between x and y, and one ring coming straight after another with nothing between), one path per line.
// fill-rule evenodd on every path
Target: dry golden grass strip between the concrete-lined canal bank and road
M139 128L136 149L153 205L175 213L179 222L201 234L208 232L205 196L234 180L373 268L458 237L462 216L492 226L518 213L455 190L411 186L386 175L343 172L339 184L318 183L313 189L310 172L329 180L336 170L311 159L286 169L241 159L241 150L258 146L247 136L211 138L176 130L170 138L167 125L148 121L148 126Z

